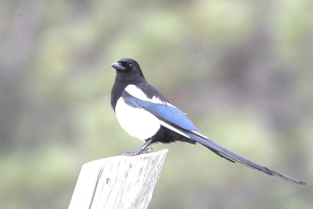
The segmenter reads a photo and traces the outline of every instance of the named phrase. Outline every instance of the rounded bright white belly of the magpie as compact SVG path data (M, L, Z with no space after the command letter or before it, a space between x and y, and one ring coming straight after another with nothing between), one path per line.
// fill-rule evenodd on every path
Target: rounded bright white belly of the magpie
M160 121L144 109L128 106L121 97L115 106L115 114L121 127L129 135L141 140L148 139L160 129Z

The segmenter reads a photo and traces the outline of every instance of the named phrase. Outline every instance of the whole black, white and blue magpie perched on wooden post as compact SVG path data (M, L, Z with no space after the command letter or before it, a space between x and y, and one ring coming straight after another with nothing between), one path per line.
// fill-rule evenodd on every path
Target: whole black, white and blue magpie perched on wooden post
M131 136L146 141L136 151L123 155L134 156L150 152L153 143L175 141L202 144L215 154L235 163L242 163L254 170L274 175L292 183L306 185L287 175L236 154L199 132L186 114L173 106L168 99L145 79L139 64L130 58L122 58L111 64L116 69L111 91L111 106L121 127Z

